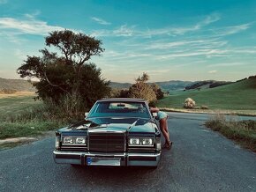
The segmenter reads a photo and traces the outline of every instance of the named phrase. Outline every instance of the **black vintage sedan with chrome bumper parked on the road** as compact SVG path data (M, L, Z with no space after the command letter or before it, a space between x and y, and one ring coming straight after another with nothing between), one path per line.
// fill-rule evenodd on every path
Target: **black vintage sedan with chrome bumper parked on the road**
M98 100L82 122L56 131L56 163L81 166L154 166L161 133L146 100Z

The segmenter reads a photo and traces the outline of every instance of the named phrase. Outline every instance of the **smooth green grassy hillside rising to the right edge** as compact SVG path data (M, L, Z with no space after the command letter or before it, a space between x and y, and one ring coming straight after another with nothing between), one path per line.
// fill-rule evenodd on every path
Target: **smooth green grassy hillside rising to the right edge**
M192 98L197 106L205 105L209 109L256 110L256 80L249 78L212 89L172 92L159 100L157 106L182 108L186 98Z

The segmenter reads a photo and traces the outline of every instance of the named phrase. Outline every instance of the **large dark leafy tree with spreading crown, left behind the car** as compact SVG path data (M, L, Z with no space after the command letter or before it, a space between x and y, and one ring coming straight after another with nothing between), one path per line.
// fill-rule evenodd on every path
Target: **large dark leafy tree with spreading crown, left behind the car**
M91 56L104 51L102 41L70 30L54 31L45 38L42 56L27 56L17 72L21 78L38 78L35 83L42 100L53 100L56 105L63 98L72 100L74 106L82 100L83 107L91 107L95 100L109 94L109 82L102 78L101 70L88 63Z

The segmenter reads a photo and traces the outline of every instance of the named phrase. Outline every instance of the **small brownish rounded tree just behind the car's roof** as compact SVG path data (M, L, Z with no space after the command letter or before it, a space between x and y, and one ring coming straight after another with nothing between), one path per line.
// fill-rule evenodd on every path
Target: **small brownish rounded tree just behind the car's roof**
M156 100L156 95L150 85L146 82L149 79L147 73L143 73L142 77L136 79L136 83L133 84L128 92L129 98L144 99L148 102Z

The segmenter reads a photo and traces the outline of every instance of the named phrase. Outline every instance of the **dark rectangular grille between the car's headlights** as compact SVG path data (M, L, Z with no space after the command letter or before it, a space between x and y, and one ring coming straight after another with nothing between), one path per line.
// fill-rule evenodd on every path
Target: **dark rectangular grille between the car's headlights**
M88 136L90 151L124 151L124 133L90 132Z

